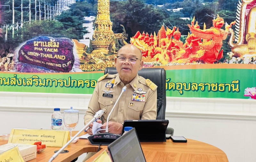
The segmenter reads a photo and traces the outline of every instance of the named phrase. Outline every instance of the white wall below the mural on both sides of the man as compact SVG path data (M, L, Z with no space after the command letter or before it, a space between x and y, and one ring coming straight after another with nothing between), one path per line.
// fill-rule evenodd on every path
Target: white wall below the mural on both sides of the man
M75 130L84 127L83 117L91 95L0 92L0 134L12 128L49 129L53 108L80 111ZM168 97L168 127L175 136L199 140L223 150L230 162L255 162L256 101Z

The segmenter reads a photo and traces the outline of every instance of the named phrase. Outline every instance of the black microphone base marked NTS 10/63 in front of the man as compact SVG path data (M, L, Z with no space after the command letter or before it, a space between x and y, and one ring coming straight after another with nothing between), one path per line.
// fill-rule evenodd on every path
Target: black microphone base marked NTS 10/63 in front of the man
M119 137L121 137L121 135L114 133L100 133L89 136L88 140L92 145L109 145Z

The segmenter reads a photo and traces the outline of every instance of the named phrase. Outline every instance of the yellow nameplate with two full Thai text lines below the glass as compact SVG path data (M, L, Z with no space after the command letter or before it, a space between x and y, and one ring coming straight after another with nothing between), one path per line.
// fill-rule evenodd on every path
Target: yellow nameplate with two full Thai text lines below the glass
M68 130L12 129L8 143L34 144L41 141L47 147L62 147L69 140Z

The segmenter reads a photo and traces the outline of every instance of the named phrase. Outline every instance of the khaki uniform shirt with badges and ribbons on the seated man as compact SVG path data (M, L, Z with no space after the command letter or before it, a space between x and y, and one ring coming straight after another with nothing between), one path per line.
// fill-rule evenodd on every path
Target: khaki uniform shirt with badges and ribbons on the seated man
M118 74L101 77L84 115L84 124L90 122L99 110L104 110L102 124L107 122L108 114L116 103L123 87L124 83L121 82ZM157 86L149 79L137 74L126 87L127 89L120 97L119 103L109 116L109 121L123 123L124 120L156 119Z

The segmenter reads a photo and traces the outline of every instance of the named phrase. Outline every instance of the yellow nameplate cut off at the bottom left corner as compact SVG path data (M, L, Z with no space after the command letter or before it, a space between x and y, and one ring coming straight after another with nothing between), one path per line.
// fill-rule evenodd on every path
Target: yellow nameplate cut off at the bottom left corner
M1 153L0 161L24 162L24 160L20 154L20 150L19 150L18 146Z

